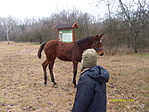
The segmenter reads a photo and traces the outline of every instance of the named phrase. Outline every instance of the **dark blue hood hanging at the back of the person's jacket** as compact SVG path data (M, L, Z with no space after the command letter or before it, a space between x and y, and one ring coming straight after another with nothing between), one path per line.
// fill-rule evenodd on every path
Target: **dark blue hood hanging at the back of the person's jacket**
M84 71L86 75L100 83L106 83L109 80L109 73L102 66L96 65Z

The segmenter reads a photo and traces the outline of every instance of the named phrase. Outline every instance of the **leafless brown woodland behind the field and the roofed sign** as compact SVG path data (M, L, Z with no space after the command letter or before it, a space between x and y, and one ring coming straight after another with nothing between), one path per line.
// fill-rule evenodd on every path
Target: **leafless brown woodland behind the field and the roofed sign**
M100 0L95 7L106 4L104 18L77 9L61 10L49 17L21 20L0 17L0 41L45 42L57 37L56 24L77 22L76 40L104 34L103 45L109 54L144 53L149 51L148 0L118 0L116 10L109 0ZM98 11L98 10L97 10Z

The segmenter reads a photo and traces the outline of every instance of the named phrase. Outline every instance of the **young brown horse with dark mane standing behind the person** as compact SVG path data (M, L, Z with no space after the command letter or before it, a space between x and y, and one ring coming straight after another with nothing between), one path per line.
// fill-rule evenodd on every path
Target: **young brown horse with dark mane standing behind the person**
M38 57L41 58L41 52L44 49L46 60L43 62L42 67L44 71L44 84L47 84L46 68L49 65L51 81L56 85L53 75L53 65L56 57L63 61L72 61L73 63L73 84L76 86L76 74L78 62L81 62L81 55L84 50L94 48L99 55L103 55L101 37L103 36L90 36L79 41L66 43L58 40L51 40L42 44L38 50Z

